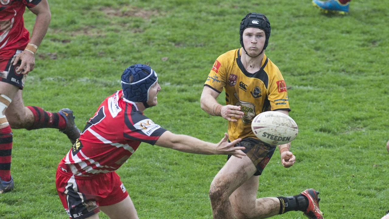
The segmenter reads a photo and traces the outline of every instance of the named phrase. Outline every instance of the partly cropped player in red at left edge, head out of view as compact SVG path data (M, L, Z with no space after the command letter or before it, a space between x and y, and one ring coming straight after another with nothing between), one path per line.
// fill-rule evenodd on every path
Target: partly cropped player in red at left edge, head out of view
M37 16L31 39L23 22L26 7ZM64 132L72 143L79 136L70 109L51 113L23 104L22 89L26 75L34 69L35 52L47 32L50 19L47 0L0 0L0 194L14 187L11 177L11 128L56 128Z

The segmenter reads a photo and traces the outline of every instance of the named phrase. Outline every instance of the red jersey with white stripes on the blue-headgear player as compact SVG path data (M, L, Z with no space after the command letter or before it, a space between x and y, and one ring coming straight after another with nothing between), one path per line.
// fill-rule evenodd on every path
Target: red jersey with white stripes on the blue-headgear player
M61 170L76 176L93 176L117 170L140 142L154 145L166 129L123 98L122 90L107 97L62 159Z

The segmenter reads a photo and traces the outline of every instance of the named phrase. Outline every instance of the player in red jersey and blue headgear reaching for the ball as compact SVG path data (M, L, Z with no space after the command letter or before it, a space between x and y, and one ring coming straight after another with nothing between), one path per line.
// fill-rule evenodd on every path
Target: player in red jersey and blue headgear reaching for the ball
M56 187L70 218L137 219L137 211L117 170L141 142L195 154L229 154L241 158L244 147L217 144L173 134L147 118L143 111L157 105L161 90L157 74L147 65L132 65L121 76L122 90L107 97L87 122L79 140L61 160Z

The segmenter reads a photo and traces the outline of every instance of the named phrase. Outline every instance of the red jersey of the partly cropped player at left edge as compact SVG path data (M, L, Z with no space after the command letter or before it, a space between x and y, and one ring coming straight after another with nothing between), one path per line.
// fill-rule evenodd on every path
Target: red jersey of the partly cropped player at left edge
M26 48L30 33L24 27L26 6L35 7L41 0L0 0L0 50Z

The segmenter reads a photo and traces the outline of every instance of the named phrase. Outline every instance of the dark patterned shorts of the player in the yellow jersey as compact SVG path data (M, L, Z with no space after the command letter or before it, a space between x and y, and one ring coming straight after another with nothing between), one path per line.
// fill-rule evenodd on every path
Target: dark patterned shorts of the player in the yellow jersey
M270 146L254 138L244 138L239 143L235 144L235 147L245 147L245 150L242 150L247 157L251 159L253 164L256 166L257 171L254 173L254 176L259 176L262 174L263 169L265 169L266 164L272 158L276 146ZM228 155L230 159L231 155Z

